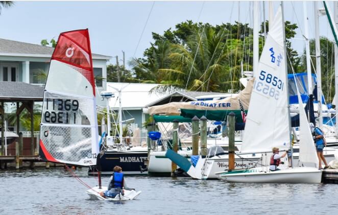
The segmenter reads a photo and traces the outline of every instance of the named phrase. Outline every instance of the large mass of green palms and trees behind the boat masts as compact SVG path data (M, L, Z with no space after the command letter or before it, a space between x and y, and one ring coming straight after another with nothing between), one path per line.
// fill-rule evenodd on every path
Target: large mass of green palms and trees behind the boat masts
M268 23L266 24L268 25ZM286 38L296 34L296 24L286 21ZM263 27L263 24L262 26ZM261 31L262 32L262 31ZM176 89L225 92L241 88L241 63L244 70L252 70L253 29L248 23L194 23L187 20L163 34L152 33L154 42L143 58L132 59L134 77L140 82L163 84L156 92ZM290 67L298 64L296 53L287 40ZM264 35L260 34L262 50Z

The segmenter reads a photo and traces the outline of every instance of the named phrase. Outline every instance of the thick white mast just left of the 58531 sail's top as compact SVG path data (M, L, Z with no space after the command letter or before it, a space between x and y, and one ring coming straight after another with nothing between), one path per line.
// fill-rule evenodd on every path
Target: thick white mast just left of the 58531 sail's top
M253 2L253 77L257 77L257 68L259 62L258 32L259 32L259 10L258 1Z

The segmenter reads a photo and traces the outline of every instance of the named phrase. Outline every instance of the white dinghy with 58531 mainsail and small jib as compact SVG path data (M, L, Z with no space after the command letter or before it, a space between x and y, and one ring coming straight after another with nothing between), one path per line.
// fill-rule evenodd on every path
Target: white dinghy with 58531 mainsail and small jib
M273 147L278 147L281 151L290 148L291 123L289 120L283 32L283 18L280 7L258 64L257 71L259 74L256 76L251 94L240 153L267 153L271 152ZM318 163L299 92L298 101L300 102L301 132L299 160L302 163ZM268 161L268 163L270 162ZM322 171L309 167L270 171L268 164L262 168L226 171L216 173L216 175L228 182L320 183Z

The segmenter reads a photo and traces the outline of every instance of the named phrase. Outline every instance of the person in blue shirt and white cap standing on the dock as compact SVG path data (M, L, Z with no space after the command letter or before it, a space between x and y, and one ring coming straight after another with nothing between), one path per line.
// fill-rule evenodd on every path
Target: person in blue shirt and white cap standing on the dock
M324 146L326 146L326 142L324 141L324 134L323 132L315 127L315 125L313 125L313 123L310 123L310 129L313 135L313 140L315 140L315 144L316 144L316 150L317 150L317 156L318 156L318 160L319 160L319 170L322 170L322 160L325 164L324 170L327 169L329 166L327 165L327 162L325 160L325 157L323 155L323 149Z

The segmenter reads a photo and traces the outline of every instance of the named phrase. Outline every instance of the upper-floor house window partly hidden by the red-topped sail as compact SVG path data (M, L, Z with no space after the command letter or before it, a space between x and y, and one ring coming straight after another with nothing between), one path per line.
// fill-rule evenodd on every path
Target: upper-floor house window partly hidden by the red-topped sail
M45 84L49 70L49 63L30 62L29 77L31 84Z

